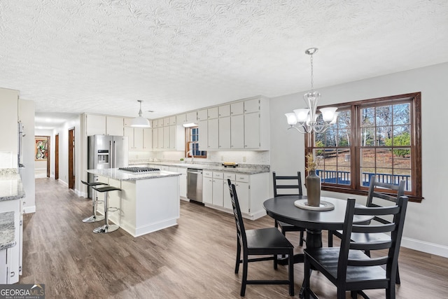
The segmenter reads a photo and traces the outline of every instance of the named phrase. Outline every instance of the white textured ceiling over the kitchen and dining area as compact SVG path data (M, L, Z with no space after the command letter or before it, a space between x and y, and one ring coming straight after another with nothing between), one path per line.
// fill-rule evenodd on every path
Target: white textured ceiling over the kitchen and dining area
M0 87L158 118L307 90L310 47L316 88L447 62L447 32L446 0L1 0Z

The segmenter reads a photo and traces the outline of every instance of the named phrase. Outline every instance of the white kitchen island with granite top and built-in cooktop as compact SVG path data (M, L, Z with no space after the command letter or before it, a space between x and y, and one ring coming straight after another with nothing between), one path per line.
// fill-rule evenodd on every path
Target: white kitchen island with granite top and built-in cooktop
M117 168L87 172L97 175L98 181L122 189L109 193L109 221L133 237L177 225L181 174L165 171L132 173ZM102 200L103 195L98 196ZM98 212L104 214L103 204L98 204Z

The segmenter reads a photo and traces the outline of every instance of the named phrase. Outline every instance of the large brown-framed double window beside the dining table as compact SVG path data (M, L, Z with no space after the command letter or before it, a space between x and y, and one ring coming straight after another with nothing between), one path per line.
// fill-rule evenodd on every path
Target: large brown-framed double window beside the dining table
M338 107L337 123L305 135L322 189L365 195L374 175L387 183L405 180L409 200L420 202L421 93L331 106Z

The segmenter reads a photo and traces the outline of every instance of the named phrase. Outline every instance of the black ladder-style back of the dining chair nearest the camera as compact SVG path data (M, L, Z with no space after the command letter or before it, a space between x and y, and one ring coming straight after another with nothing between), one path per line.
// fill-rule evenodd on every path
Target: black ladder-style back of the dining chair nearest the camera
M401 196L396 205L390 207L355 207L355 199L349 198L347 200L346 215L344 222L344 229L342 234L341 247L339 251L339 260L337 266L337 280L344 284L346 281L346 272L348 266L366 267L374 265L386 265L386 276L395 281L398 265L398 253L400 252L400 243L402 237L403 226L405 224L405 214L407 209L407 197ZM356 215L370 215L384 217L387 215L393 216L392 221L386 221L379 225L357 225L353 224L353 216ZM352 242L351 233L391 233L391 239L384 239L381 242ZM362 251L374 251L387 249L386 255L378 258L362 258L352 259L349 256L350 249L357 249ZM360 288L363 289L363 288Z

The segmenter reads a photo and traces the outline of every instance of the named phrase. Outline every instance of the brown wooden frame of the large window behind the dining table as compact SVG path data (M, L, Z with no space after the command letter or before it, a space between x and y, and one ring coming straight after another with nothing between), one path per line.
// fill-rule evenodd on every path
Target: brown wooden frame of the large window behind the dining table
M355 159L350 160L351 183L350 185L335 185L331 183L322 182L322 190L349 193L356 195L367 195L368 187L363 187L360 183L360 119L358 113L360 109L372 106L384 106L390 102L391 104L398 104L399 102L411 102L410 107L410 125L411 125L411 184L415 188L411 191L405 192L409 197L409 201L421 202L423 200L422 186L421 186L421 92L412 92L404 95L393 95L388 97L378 97L373 99L363 99L354 102L345 102L341 104L331 104L325 106L318 106L317 109L328 106L337 106L338 109L349 109L351 112L350 122L350 138L352 140L349 148L351 155ZM318 147L314 147L314 133L304 134L305 139L305 155L313 153ZM307 161L305 159L305 165Z

